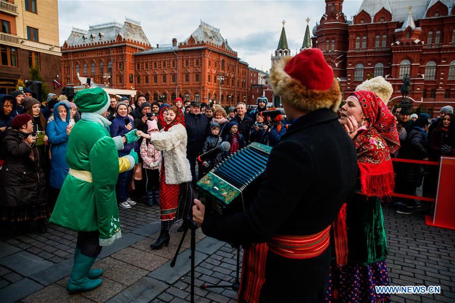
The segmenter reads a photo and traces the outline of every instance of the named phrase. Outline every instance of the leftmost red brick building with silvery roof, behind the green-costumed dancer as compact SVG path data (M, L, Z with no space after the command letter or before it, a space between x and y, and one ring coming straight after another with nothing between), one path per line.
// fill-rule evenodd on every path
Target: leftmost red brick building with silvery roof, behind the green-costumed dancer
M73 28L61 48L63 86L77 86L77 74L95 83L118 89L134 89L133 54L151 48L139 22L108 22Z

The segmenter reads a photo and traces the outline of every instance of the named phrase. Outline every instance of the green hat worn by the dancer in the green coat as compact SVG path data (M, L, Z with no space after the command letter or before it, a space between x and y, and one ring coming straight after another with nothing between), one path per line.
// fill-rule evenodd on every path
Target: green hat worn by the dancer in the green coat
M76 93L74 103L82 113L103 113L109 108L109 96L101 88L86 88Z

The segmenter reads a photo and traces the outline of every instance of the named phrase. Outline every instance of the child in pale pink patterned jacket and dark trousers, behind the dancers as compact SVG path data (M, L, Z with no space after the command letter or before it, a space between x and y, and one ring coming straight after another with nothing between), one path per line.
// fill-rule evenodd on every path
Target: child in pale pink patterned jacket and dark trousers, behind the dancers
M158 123L155 120L148 120L147 126L149 135L158 132ZM144 138L142 140L141 158L144 163L146 175L147 205L159 205L160 173L158 167L161 163L161 153L153 146L149 139Z

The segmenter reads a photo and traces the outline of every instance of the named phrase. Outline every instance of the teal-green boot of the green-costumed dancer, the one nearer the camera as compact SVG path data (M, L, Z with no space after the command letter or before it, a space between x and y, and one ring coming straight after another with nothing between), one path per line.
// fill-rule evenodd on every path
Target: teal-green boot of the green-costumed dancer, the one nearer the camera
M95 263L96 258L90 258L82 254L74 257L73 270L66 283L69 292L87 291L97 288L101 284L101 279L90 280L87 278L90 268Z

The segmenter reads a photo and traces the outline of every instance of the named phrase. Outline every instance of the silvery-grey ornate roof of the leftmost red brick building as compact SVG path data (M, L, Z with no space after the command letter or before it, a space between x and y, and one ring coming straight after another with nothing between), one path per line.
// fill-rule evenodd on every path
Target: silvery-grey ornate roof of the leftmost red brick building
M150 45L141 23L129 18L125 18L123 24L113 21L89 25L88 30L73 27L66 43L68 46L105 43L115 41L118 35L126 40Z

